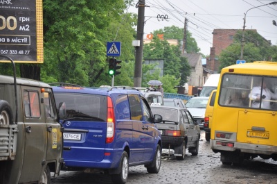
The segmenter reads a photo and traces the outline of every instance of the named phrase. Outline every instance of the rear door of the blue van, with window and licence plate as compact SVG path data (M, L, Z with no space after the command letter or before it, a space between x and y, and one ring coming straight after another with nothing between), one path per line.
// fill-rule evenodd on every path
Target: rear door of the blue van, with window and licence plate
M82 161L103 160L107 135L107 96L55 91L54 96L56 106L66 102L66 118L60 120L64 126L63 158L66 166L89 167L82 165Z

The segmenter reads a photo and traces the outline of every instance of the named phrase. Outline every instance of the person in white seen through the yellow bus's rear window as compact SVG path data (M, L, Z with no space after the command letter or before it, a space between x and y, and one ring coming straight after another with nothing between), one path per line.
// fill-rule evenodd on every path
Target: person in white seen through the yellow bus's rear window
M260 94L262 92L262 94ZM271 92L267 88L267 83L260 81L259 85L253 87L252 92L249 94L249 99L252 99L252 108L270 108L270 99L277 99L277 94ZM261 106L260 106L260 101Z

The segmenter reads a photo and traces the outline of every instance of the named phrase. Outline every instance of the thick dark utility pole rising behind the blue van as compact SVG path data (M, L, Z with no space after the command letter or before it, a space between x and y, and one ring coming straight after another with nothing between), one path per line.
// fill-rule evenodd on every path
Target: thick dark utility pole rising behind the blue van
M138 25L136 29L136 40L140 40L140 45L136 47L136 56L134 62L134 87L141 87L142 66L143 66L143 29L144 29L144 9L145 0L139 0Z

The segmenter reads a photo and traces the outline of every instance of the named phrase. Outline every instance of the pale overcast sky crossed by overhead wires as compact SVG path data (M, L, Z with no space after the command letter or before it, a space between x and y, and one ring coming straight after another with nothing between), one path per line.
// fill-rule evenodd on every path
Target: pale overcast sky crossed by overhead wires
M277 0L276 0L277 1ZM137 1L136 1L137 2ZM244 13L247 12L246 28L256 29L262 37L277 44L277 5L263 6L274 1L268 0L145 0L144 37L148 33L165 26L184 27L188 19L188 31L197 41L200 52L208 55L213 46L213 29L242 29ZM129 12L138 13L131 7ZM157 19L157 15L168 15L168 21Z

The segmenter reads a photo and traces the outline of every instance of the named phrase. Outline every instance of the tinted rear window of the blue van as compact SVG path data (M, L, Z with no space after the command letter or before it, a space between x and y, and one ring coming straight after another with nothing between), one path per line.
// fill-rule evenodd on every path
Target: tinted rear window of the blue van
M56 106L66 103L67 118L82 118L93 122L106 122L107 97L96 94L54 92Z

